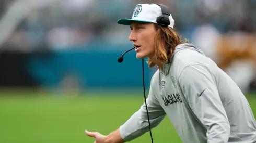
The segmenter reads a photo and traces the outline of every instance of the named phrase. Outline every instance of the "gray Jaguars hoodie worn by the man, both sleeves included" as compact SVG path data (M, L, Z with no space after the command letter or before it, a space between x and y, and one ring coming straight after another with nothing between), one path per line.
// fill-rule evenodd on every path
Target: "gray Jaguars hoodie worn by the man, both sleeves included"
M247 99L236 83L192 44L178 45L171 63L155 72L147 107L152 128L167 115L183 142L256 142L256 122ZM145 103L120 126L126 141L148 131Z

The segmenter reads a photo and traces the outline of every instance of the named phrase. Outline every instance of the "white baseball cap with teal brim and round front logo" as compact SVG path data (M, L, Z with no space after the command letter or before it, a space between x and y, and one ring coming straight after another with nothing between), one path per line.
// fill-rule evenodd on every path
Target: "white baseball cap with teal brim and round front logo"
M157 18L162 15L162 9L157 4L137 4L133 10L132 19L119 19L118 24L130 25L132 21L157 23ZM169 16L169 21L170 24L168 25L168 27L173 28L174 20L171 14Z

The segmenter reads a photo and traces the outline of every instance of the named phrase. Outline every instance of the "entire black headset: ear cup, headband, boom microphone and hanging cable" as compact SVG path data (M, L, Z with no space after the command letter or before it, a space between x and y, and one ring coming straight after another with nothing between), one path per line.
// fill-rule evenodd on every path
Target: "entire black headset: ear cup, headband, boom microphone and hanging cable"
M170 20L169 20L169 16L170 16L170 9L168 6L162 5L162 4L156 4L158 6L160 6L160 8L162 9L162 16L158 17L156 22L160 25L164 25L164 26L168 26L170 25ZM118 62L121 63L123 62L123 56L131 51L132 49L134 49L135 47L125 51L119 58L118 58ZM147 102L146 102L146 95L145 95L145 83L144 83L144 60L142 59L142 81L143 81L143 90L144 90L144 100L145 100L145 105L146 105L146 110L147 110ZM148 124L149 124L149 132L150 132L150 137L151 137L151 141L153 143L153 137L152 137L152 132L151 132L151 127L150 127L150 121L149 121L149 115L148 115L148 110L147 110L147 119L148 119Z

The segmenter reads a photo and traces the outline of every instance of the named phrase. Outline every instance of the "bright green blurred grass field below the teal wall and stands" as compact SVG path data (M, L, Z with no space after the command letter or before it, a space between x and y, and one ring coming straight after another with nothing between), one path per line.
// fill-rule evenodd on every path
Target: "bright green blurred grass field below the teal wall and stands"
M85 129L108 134L144 102L138 94L68 94L14 92L0 94L1 143L94 142ZM247 95L256 115L256 94ZM181 142L168 118L153 129L154 142ZM150 134L131 141L150 142Z

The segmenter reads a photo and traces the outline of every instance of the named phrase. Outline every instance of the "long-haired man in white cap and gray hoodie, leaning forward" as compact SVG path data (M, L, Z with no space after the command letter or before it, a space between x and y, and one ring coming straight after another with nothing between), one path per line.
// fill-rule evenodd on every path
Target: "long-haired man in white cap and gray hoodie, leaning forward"
M161 10L156 4L138 4L132 19L118 21L130 25L136 57L147 57L149 67L159 68L146 100L151 127L167 115L183 142L256 142L255 119L238 86L201 50L182 43L171 15L167 26L159 24ZM107 136L85 132L96 143L126 142L148 132L148 126L144 104Z

